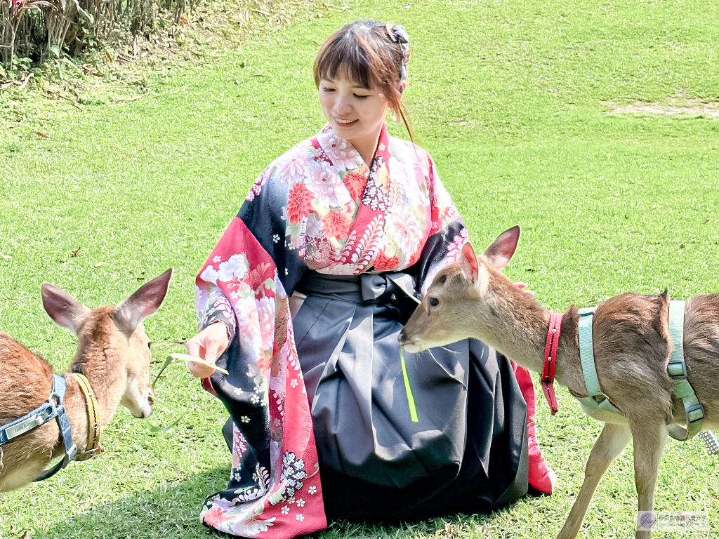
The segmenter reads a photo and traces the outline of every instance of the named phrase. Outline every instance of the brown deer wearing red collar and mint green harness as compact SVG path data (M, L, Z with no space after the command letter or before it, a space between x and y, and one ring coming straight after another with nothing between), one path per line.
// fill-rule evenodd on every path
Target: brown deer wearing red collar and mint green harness
M500 273L515 252L519 233L519 226L503 232L480 257L466 244L460 263L434 277L400 334L408 351L478 338L526 369L543 371L551 313ZM686 423L684 405L672 396L675 382L667 373L672 353L668 308L667 292L625 293L597 306L592 329L597 377L621 415L582 405L605 425L557 539L576 537L597 484L632 439L638 510L652 510L668 425ZM587 397L587 387L580 363L578 318L574 305L564 313L555 376L574 397L582 398ZM719 426L719 294L687 300L683 343L688 379L705 410L703 428L715 430ZM636 531L637 539L649 537L651 529Z

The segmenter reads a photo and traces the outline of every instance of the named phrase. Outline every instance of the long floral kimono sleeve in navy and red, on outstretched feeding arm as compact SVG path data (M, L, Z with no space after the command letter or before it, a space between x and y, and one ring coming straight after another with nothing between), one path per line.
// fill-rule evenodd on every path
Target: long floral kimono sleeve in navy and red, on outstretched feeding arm
M326 517L288 307L306 265L285 240L288 185L276 170L257 180L196 280L201 328L221 321L232 336L217 360L229 374L214 372L208 389L234 420L229 485L206 499L201 519L285 539L326 528Z

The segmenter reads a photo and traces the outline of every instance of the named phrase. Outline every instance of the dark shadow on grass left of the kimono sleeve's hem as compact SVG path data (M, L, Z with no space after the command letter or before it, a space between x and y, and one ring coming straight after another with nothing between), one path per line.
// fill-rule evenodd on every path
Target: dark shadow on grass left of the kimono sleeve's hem
M211 533L200 522L200 510L206 496L223 488L228 476L228 468L217 468L135 492L58 522L33 539L207 539Z

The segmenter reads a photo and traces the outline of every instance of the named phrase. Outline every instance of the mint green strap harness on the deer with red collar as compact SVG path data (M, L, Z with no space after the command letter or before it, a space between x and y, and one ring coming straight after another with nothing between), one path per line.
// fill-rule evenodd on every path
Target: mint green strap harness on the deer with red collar
M704 419L704 407L697 400L692 384L687 379L687 363L684 361L684 301L669 302L669 338L672 339L674 349L669 357L667 373L676 385L672 390L672 396L681 399L684 404L684 414L687 418L687 428L680 425L669 425L667 431L669 436L679 441L687 441L702 430ZM620 410L615 407L605 395L599 385L597 368L594 362L594 341L592 338L592 322L596 307L587 307L579 310L579 341L580 361L582 361L582 372L585 385L587 386L588 397L579 397L582 405L588 410L604 410L605 412L621 415Z

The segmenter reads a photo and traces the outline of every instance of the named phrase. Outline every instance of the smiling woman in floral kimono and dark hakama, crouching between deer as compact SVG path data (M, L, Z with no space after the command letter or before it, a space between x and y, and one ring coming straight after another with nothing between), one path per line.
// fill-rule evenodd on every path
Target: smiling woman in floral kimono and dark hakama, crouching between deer
M429 155L387 134L392 109L414 139L408 59L393 23L329 37L327 125L260 175L198 276L188 353L229 371L189 364L232 416L229 486L202 512L217 530L289 538L551 492L525 371L478 341L400 355L401 324L467 241Z

